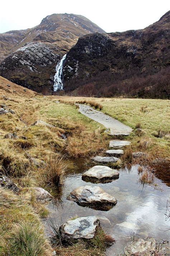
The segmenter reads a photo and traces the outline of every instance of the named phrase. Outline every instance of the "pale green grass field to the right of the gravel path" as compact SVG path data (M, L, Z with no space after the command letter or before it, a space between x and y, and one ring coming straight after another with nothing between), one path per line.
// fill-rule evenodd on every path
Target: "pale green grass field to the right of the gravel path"
M118 119L135 129L140 123L144 131L142 138L152 138L153 145L147 150L154 157L168 157L170 142L166 138L156 138L154 134L159 128L170 131L170 105L168 100L148 99L105 99L103 112ZM147 112L142 112L141 107L147 106ZM127 137L132 141L133 151L140 151L138 141L140 137L132 133Z

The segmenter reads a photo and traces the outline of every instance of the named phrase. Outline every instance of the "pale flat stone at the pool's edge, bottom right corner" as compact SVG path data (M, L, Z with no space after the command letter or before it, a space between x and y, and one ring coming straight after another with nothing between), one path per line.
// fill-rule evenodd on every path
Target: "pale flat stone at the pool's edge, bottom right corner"
M125 255L145 255L151 256L155 255L156 251L156 241L154 238L138 239L133 241L131 244L126 246L124 250Z

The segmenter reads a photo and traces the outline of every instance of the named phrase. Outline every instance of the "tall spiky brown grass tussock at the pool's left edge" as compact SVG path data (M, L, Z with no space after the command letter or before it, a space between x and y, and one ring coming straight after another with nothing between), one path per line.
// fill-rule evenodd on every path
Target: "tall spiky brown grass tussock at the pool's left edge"
M46 166L41 172L44 183L55 186L62 185L66 169L65 156L49 155Z

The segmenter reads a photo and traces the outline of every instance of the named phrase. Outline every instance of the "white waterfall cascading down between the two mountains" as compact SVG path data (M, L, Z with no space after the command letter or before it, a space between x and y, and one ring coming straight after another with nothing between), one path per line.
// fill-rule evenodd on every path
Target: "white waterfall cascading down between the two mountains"
M63 90L63 83L62 83L62 65L63 61L66 58L66 54L58 61L56 66L56 74L54 76L54 91Z

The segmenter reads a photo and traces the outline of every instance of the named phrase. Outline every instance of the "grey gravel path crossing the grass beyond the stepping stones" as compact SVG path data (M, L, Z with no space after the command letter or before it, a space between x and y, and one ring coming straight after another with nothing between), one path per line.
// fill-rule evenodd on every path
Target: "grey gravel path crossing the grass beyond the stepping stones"
M128 135L132 132L132 128L122 124L118 120L103 114L101 111L94 110L88 105L79 104L79 111L81 114L88 116L94 121L103 124L106 128L110 129L111 135Z

